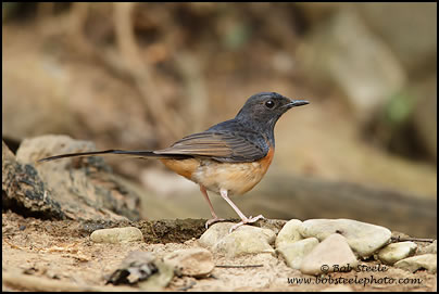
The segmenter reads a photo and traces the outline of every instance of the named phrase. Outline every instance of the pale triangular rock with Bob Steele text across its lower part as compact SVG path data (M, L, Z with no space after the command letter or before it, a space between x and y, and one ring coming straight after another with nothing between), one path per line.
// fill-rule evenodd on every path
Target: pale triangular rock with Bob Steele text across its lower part
M306 274L321 274L333 271L350 271L359 261L347 239L338 233L330 234L308 254L300 267Z

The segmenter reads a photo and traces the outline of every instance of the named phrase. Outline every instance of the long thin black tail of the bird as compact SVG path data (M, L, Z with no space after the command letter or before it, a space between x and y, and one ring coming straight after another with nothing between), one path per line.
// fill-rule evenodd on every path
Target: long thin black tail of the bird
M105 150L105 151L92 151L92 152L79 152L79 153L68 153L68 154L60 154L55 156L50 156L46 158L41 158L38 162L50 162L66 157L78 157L78 156L95 156L95 155L104 155L104 154L116 154L116 155L130 155L137 157L155 157L155 158L175 158L175 159L185 159L190 158L190 155L180 155L180 154L155 154L153 151L124 151L124 150Z

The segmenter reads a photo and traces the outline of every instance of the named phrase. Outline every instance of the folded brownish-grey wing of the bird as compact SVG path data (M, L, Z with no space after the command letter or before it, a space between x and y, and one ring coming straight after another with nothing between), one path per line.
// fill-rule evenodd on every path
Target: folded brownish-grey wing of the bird
M264 157L267 150L246 136L204 131L187 136L172 146L154 153L206 156L220 162L253 162Z

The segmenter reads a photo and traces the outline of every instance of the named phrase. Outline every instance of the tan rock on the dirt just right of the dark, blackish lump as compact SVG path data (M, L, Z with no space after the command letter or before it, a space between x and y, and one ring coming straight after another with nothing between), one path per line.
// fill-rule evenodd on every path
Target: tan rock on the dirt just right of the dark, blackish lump
M174 265L179 273L196 278L208 276L215 267L212 253L200 247L175 251L163 259Z

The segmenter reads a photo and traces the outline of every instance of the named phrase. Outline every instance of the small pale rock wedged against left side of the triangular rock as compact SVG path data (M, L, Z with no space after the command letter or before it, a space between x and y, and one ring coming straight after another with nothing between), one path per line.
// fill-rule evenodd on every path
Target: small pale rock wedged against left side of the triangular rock
M316 245L316 238L308 238L294 243L283 243L277 251L284 256L287 265L293 269L300 269L304 256L306 256Z

